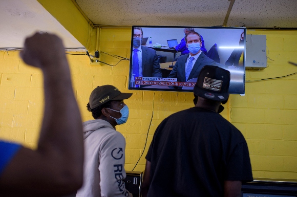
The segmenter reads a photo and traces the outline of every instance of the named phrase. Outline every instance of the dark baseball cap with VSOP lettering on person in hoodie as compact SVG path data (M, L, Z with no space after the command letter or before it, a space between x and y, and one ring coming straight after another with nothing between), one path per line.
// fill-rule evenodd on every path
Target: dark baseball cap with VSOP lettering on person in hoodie
M91 109L96 108L111 100L124 100L132 96L132 93L121 93L113 85L97 86L91 93L89 104Z

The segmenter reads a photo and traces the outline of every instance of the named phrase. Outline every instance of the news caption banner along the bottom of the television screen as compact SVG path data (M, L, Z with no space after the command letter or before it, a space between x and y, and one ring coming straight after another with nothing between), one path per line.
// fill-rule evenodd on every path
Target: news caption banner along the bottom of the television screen
M196 82L180 82L177 81L177 78L135 77L135 84L194 87Z

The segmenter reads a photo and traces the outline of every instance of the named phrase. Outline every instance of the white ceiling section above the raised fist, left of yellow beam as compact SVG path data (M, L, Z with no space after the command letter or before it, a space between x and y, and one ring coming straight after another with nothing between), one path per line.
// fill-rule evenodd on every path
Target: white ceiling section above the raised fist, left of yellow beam
M22 48L36 31L59 35L66 48L83 47L36 0L0 0L0 48Z

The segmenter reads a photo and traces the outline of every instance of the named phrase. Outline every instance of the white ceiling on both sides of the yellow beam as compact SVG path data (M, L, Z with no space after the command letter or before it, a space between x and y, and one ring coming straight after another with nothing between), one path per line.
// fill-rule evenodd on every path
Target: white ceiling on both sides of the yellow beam
M75 0L95 25L222 26L228 0ZM0 0L0 48L20 48L35 31L83 47L36 0ZM227 26L297 29L297 0L235 0Z

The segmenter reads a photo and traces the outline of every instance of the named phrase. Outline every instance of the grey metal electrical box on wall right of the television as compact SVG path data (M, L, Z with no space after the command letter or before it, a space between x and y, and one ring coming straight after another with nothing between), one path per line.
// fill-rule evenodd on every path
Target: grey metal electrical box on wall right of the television
M266 35L246 35L245 69L259 70L267 67Z

